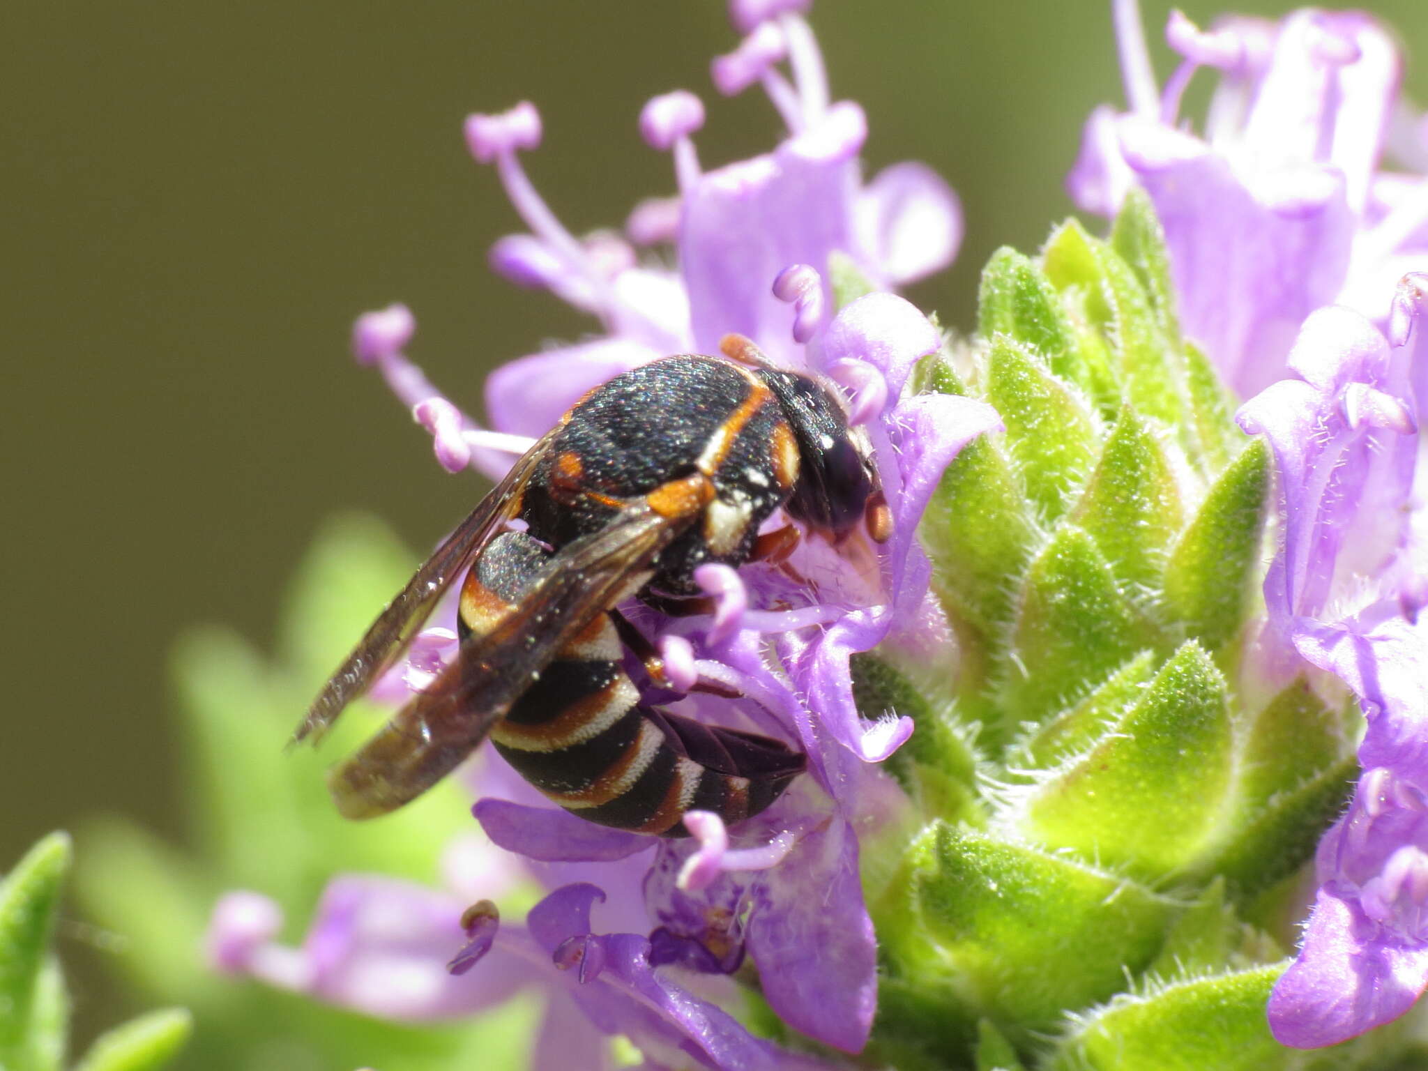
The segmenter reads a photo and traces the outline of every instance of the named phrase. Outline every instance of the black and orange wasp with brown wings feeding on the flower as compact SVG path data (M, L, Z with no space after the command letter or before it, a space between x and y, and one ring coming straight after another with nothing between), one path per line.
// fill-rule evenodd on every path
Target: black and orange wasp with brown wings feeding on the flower
M771 367L740 336L721 350L585 394L387 605L296 740L320 738L464 575L454 660L330 771L338 811L396 810L487 737L573 814L648 834L683 835L688 810L741 821L804 770L781 741L643 704L624 668L630 650L663 680L617 605L697 604L697 567L787 557L797 528L760 534L775 510L834 543L858 526L891 534L867 434L835 388Z

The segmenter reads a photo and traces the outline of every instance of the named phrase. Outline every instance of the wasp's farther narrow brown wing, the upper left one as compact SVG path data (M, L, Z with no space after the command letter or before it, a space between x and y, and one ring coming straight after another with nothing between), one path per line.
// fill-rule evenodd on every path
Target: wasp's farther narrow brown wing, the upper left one
M496 530L516 516L521 491L545 456L555 431L548 433L511 466L511 471L461 521L416 575L381 611L367 634L313 700L307 717L293 734L321 740L348 703L366 693L411 645L437 600L466 573Z

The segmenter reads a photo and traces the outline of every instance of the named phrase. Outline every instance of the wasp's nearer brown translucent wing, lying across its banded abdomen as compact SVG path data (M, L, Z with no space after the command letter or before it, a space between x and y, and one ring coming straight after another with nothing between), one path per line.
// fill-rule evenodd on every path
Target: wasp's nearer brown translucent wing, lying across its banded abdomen
M563 547L510 614L471 635L426 691L333 770L337 810L348 818L386 814L451 773L595 614L644 583L655 555L694 516L641 503Z

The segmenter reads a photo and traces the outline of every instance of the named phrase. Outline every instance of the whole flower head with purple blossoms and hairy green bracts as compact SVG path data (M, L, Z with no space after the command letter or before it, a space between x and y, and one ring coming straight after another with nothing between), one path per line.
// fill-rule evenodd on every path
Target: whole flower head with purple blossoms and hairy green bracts
M654 1068L1289 1068L1365 1034L1335 1058L1422 1057L1372 1030L1428 988L1428 127L1392 37L1177 13L1160 87L1112 0L1128 107L1092 113L1068 180L1110 236L1000 250L950 340L892 288L955 254L957 200L920 164L863 180L808 6L733 0L711 67L787 137L705 170L703 103L655 97L640 131L677 193L618 233L541 200L531 104L467 120L528 228L491 267L600 323L497 370L484 426L408 358L408 310L354 333L438 463L493 477L591 387L728 336L840 384L892 538L704 565L701 615L625 608L665 667L648 703L778 737L808 775L655 840L483 754L484 838L451 844L447 888L338 877L300 947L234 892L211 962L401 1021L521 991L541 1068L608 1065L611 1038ZM456 648L438 613L374 697Z

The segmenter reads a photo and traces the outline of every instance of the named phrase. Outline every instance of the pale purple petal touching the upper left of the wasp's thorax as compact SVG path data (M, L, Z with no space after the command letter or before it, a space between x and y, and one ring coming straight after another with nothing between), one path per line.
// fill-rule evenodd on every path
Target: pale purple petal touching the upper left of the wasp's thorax
M623 338L600 338L521 357L486 380L486 411L497 431L544 436L587 391L663 356Z

